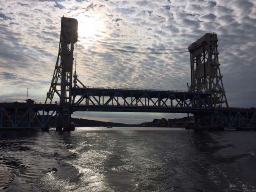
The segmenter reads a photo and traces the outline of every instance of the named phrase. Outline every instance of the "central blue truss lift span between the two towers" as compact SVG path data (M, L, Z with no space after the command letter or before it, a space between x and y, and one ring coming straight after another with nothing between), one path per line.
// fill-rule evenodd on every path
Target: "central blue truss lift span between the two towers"
M182 91L72 88L74 111L210 111L210 94Z

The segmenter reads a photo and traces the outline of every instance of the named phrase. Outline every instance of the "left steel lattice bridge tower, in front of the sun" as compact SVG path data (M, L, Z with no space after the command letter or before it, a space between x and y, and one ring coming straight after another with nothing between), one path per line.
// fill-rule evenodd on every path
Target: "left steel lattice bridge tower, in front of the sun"
M52 83L45 103L57 94L60 104L71 104L72 72L73 72L73 54L74 44L78 38L78 21L73 18L61 18L60 44L58 57L52 77Z

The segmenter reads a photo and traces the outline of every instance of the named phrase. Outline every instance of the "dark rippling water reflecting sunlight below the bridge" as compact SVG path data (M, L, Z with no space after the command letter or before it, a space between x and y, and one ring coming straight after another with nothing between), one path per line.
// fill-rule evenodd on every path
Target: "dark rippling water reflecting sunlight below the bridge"
M254 192L256 132L0 132L0 191Z

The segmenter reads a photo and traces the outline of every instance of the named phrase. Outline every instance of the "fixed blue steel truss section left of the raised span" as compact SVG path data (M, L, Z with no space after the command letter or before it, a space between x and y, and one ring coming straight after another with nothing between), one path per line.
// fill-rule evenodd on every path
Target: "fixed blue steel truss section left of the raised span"
M56 104L1 103L0 128L47 129L70 120L69 106Z

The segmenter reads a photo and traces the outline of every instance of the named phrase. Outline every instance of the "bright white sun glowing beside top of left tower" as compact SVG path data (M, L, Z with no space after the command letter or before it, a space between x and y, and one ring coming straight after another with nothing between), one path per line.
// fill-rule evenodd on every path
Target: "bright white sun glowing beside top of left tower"
M78 18L78 36L80 38L98 38L103 31L104 24L100 19L88 16Z

